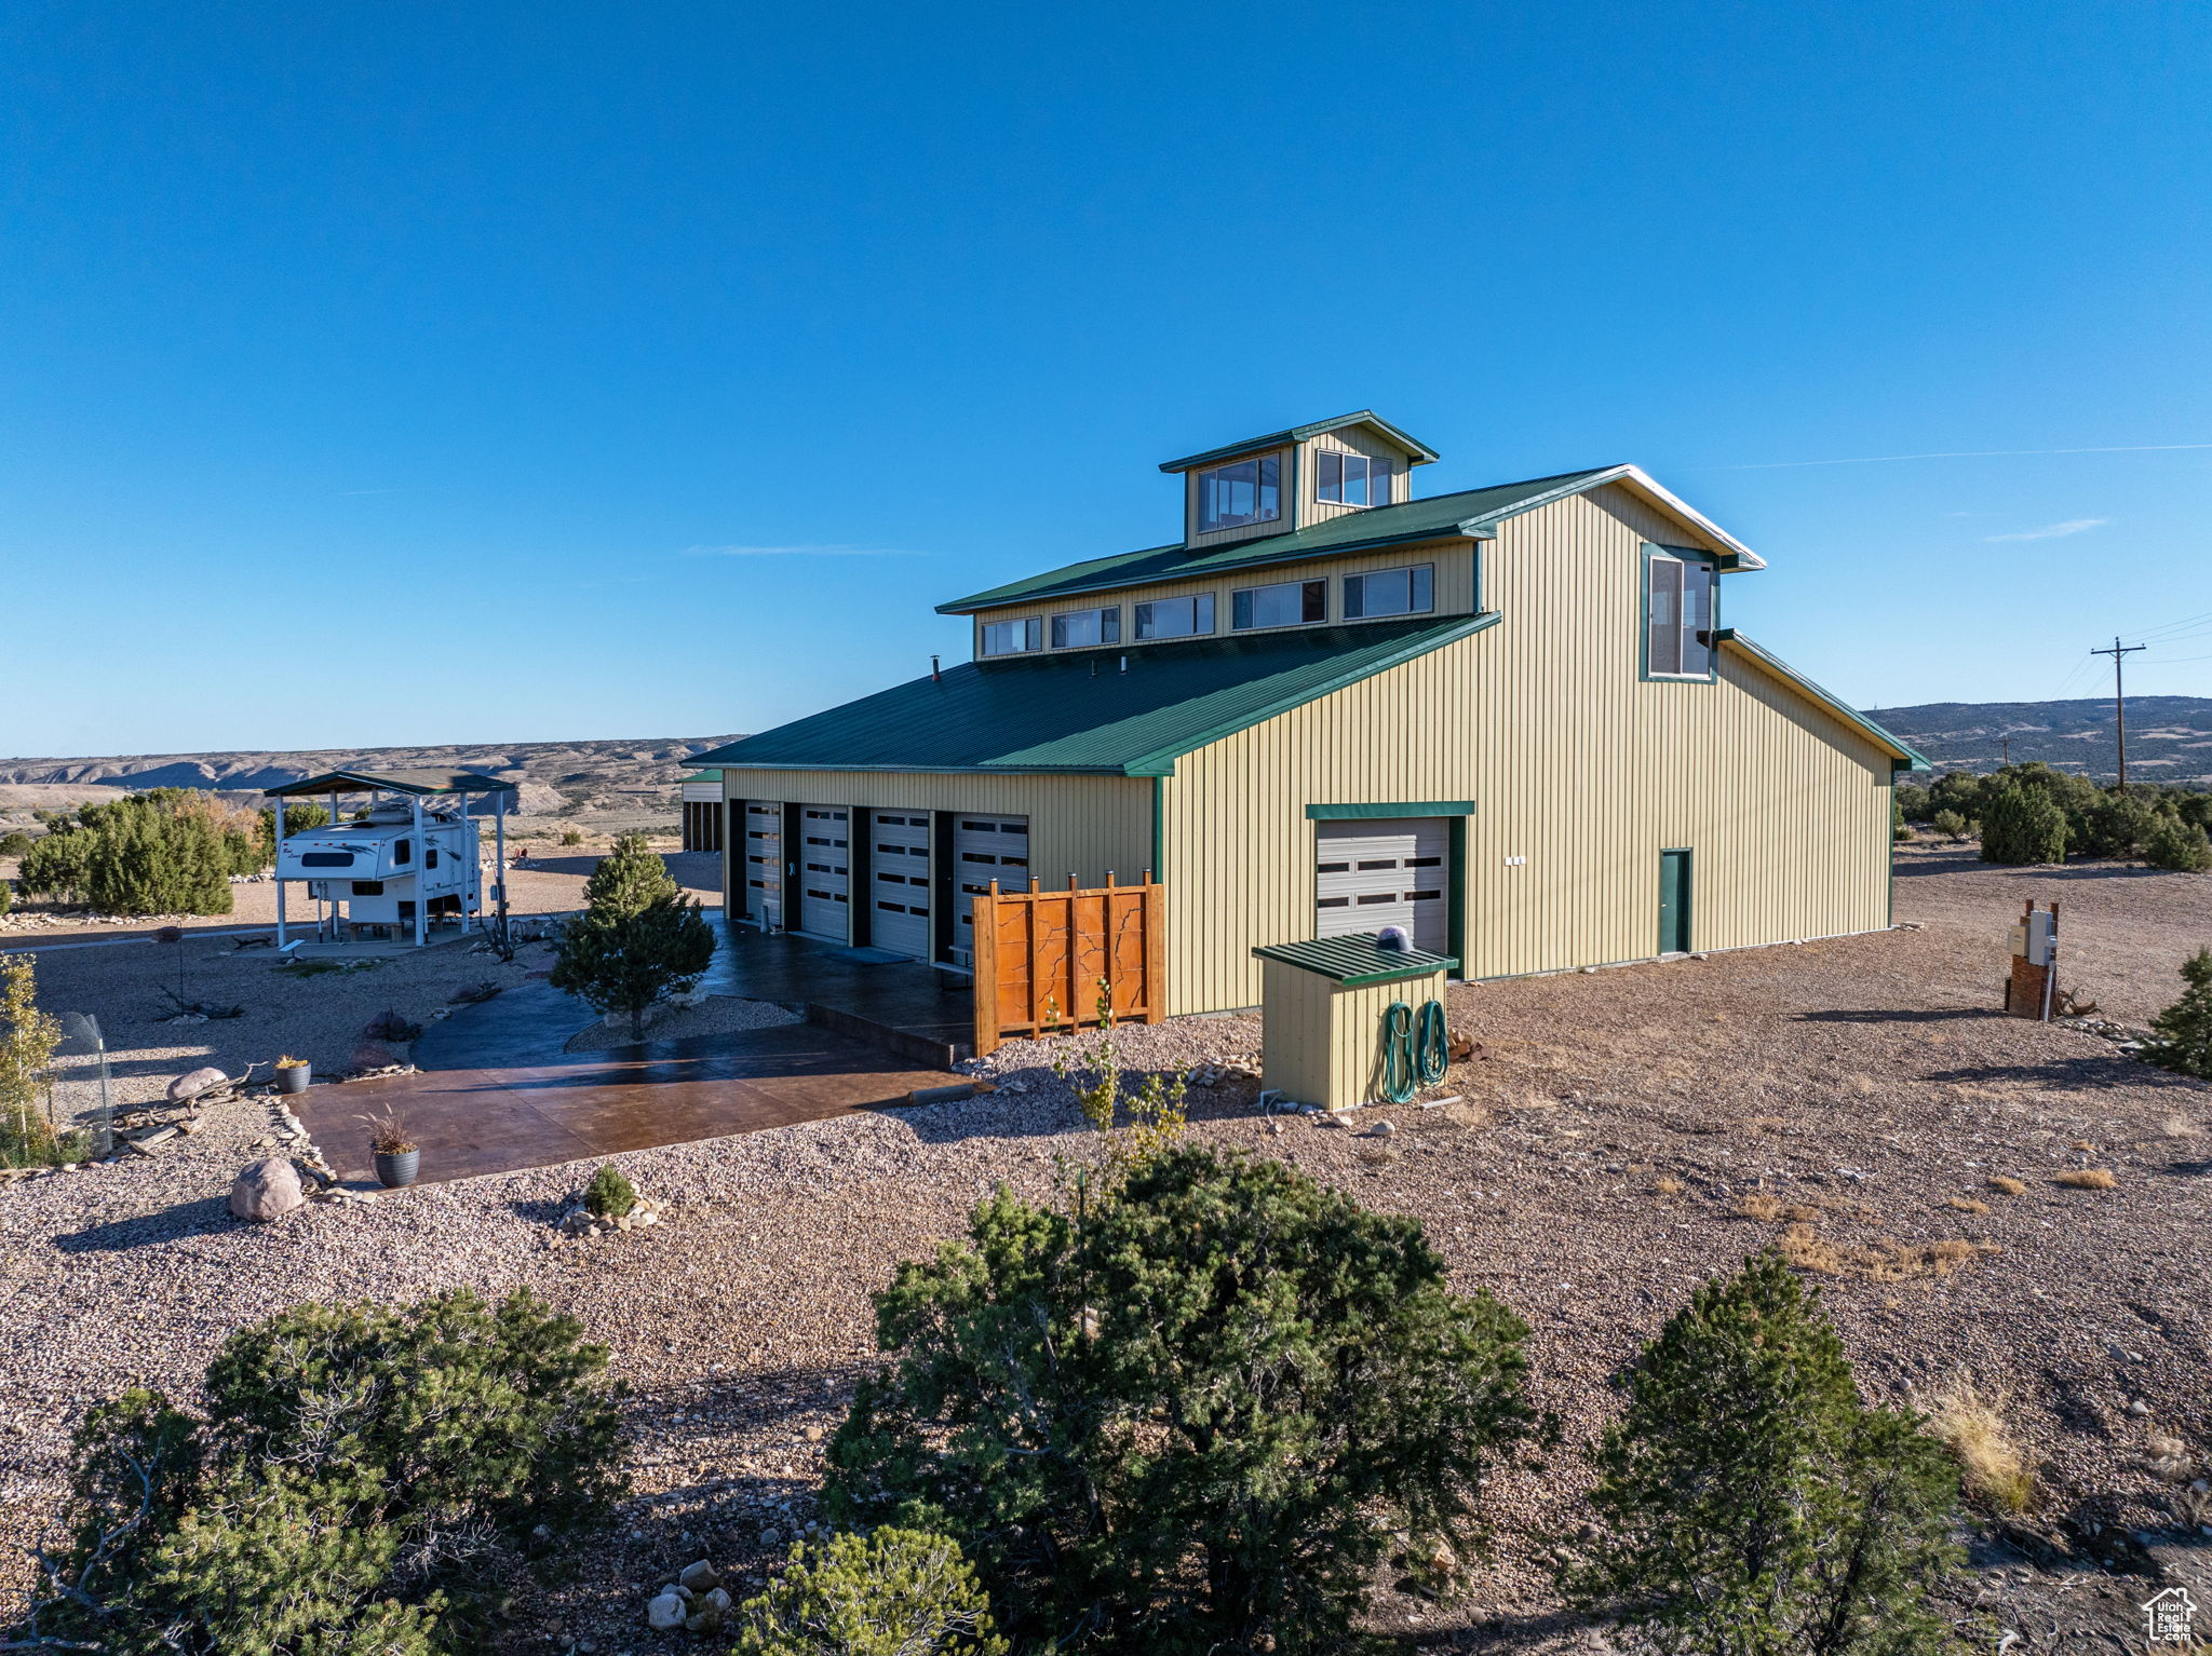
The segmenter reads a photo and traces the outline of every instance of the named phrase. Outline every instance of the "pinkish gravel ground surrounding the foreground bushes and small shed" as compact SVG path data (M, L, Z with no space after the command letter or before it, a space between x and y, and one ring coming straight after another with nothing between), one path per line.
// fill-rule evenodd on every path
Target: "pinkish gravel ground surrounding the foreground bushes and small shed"
M1798 1243L1827 1267L1869 1395L1927 1395L1962 1369L2011 1395L2046 1492L2011 1534L1978 1539L1962 1614L2020 1632L2024 1656L2130 1647L2161 1572L2212 1599L2203 1554L2181 1545L2203 1514L2150 1464L2154 1433L2190 1446L2183 1477L2212 1444L2212 1088L1993 1015L2004 924L2033 882L1911 867L1909 931L1455 986L1453 1024L1482 1050L1449 1077L1458 1103L1365 1112L1394 1121L1389 1141L1276 1132L1250 1081L1194 1094L1192 1136L1418 1216L1458 1287L1531 1322L1537 1402L1571 1448L1498 1481L1500 1541L1464 1601L1385 1592L1380 1629L1427 1649L1610 1649L1559 1616L1542 1537L1579 1517L1573 1446L1610 1411L1608 1377L1697 1280L1787 1229L1741 1218L1745 1196L1809 1216ZM2212 940L2212 882L2106 871L2073 878L2064 902L2075 986L2130 1021ZM1002 1048L998 1090L967 1103L619 1156L668 1223L588 1243L551 1229L586 1165L234 1225L221 1189L265 1132L252 1103L219 1105L161 1159L0 1192L4 1539L51 1521L84 1404L137 1377L188 1391L226 1333L283 1304L531 1285L637 1388L637 1495L511 1647L672 1652L681 1641L644 1632L672 1570L706 1552L757 1572L810 1519L821 1435L872 1355L869 1289L956 1234L993 1181L1046 1196L1055 1152L1079 1147L1053 1046ZM1256 1048L1243 1017L1124 1030L1139 1068ZM2115 1185L2055 1183L2084 1165Z

